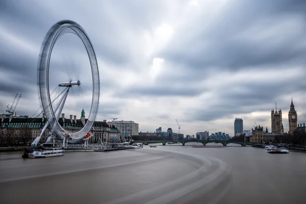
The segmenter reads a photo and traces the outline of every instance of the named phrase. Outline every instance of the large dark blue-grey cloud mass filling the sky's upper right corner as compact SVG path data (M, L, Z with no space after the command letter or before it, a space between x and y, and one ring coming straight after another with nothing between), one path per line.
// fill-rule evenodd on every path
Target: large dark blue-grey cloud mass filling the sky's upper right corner
M305 46L297 47L297 45L306 40L304 35L306 24L305 20L302 20L306 17L305 3L299 6L292 1L278 1L273 4L272 1L234 1L228 4L231 5L227 10L211 19L214 23L203 24L205 29L195 30L194 32L197 33L195 37L188 38L187 34L186 39L184 33L184 40L182 40L183 36L177 35L170 42L168 49L163 50L160 55L168 61L181 63L194 69L208 66L220 66L233 70L249 66L258 68L263 64L304 59ZM282 22L285 17L300 23L298 28L292 28L296 29L296 32L292 32L293 34L273 30L274 38L272 39L252 42L251 36L256 37L257 33L247 33L250 36L249 40L239 38L242 32L256 23L261 22L263 30L269 29L274 24ZM265 19L270 21L264 21ZM267 23L266 27L263 23ZM183 29L189 30L189 28ZM277 40L281 41L275 44Z

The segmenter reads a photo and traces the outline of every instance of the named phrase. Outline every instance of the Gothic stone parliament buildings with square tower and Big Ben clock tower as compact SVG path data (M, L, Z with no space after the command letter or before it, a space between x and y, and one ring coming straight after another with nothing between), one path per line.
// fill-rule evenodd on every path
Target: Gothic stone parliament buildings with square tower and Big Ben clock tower
M297 112L294 108L293 100L291 99L290 110L288 113L288 121L289 121L289 132L284 131L283 118L282 118L282 110L276 109L275 103L275 111L271 110L271 132L268 132L268 128L264 131L263 126L255 126L252 129L252 136L249 138L250 142L265 142L265 143L273 143L275 142L276 136L281 136L284 134L293 135L296 130L305 129L305 123L297 124Z

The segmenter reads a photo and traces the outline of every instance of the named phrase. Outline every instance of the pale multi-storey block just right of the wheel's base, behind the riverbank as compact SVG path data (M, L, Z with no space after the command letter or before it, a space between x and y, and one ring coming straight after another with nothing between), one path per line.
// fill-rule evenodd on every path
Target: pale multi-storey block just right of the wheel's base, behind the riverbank
M119 120L110 122L115 124L120 132L120 138L131 139L132 136L138 135L139 124L134 121Z

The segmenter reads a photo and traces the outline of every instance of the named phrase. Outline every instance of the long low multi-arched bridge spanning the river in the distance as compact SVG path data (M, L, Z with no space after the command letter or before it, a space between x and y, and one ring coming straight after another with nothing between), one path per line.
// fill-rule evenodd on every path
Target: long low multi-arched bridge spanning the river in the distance
M241 146L258 144L258 143L254 143L254 142L230 142L230 141L218 141L218 140L205 140L205 141L185 141L185 140L184 141L166 141L166 140L155 141L155 140L142 140L142 141L133 141L133 143L142 143L144 145L156 144L156 143L162 143L163 145L182 143L183 146L186 143L189 143L189 142L202 143L204 146L206 146L206 144L208 144L208 143L220 143L223 146L226 146L227 144L241 144Z

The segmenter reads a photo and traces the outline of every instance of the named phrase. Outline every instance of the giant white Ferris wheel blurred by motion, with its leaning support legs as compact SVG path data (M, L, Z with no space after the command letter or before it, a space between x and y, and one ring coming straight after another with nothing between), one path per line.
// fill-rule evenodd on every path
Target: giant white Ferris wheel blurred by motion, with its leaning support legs
M92 72L92 100L91 107L88 119L85 125L78 132L68 132L66 131L62 125L59 123L59 117L65 105L66 98L68 96L69 90L75 86L80 86L81 81L70 81L59 83L58 87L64 87L63 95L61 95L59 102L55 107L53 107L53 100L50 97L49 90L49 65L50 65L50 57L52 55L53 48L58 41L66 33L72 33L78 36L87 51L87 55L90 62L91 72ZM71 20L62 20L55 23L52 28L49 29L45 38L42 42L39 59L38 59L38 85L39 85L39 94L41 99L41 105L43 108L43 112L45 113L45 117L47 118L47 122L39 135L38 141L34 141L33 143L37 145L40 140L40 136L49 125L52 133L59 140L80 140L88 137L88 133L91 130L93 122L95 121L98 104L99 104L99 71L97 60L95 56L95 52L92 46L90 39L88 38L84 29L78 23ZM33 144L32 143L32 144Z

